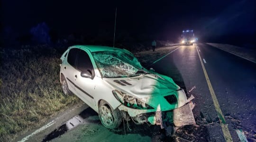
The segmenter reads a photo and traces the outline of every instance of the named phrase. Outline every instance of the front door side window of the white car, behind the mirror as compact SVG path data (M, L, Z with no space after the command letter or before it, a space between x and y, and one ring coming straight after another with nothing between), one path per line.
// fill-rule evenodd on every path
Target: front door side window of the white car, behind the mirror
M78 53L77 69L79 71L86 71L89 69L89 70L91 70L91 73L94 74L91 59L90 59L89 55L83 50L81 50Z

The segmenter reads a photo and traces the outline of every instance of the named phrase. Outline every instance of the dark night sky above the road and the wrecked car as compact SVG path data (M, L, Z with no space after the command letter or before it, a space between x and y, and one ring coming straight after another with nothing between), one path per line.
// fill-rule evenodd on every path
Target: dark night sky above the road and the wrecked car
M176 40L183 29L199 39L255 36L255 0L2 0L2 26L22 35L46 22L58 34L144 35Z

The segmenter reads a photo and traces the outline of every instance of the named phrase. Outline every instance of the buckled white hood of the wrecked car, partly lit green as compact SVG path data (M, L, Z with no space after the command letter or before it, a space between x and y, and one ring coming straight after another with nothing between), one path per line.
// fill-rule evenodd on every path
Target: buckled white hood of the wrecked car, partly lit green
M149 95L165 95L180 89L173 79L156 73L128 78L104 78L103 80L112 87L138 98L145 98Z

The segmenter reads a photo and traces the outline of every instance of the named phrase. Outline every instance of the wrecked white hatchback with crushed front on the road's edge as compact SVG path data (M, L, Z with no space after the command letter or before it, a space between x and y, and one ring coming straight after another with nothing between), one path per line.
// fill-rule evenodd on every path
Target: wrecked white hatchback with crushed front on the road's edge
M193 96L164 75L141 66L127 50L92 45L69 47L61 57L60 80L94 109L109 129L122 119L162 128L195 124Z

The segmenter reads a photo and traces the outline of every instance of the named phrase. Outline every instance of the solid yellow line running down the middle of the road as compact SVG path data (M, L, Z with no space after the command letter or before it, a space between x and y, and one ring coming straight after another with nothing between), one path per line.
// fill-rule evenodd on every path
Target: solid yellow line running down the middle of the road
M202 65L202 69L203 69L203 72L204 72L204 75L205 75L206 82L207 82L209 90L210 90L210 95L211 95L211 98L213 100L214 107L215 107L215 109L217 111L217 115L219 117L220 126L222 128L222 132L224 134L225 140L226 140L226 142L233 142L232 137L231 137L231 135L229 133L228 124L226 124L224 115L222 114L222 111L221 111L221 109L219 107L218 99L216 98L215 92L214 92L214 90L213 90L213 88L211 86L210 79L209 79L208 74L207 74L207 72L205 70L205 67L203 65L201 56L200 56L198 48L197 48L197 45L196 45L196 50L197 50L197 53L199 55L199 59L200 59L201 65Z

